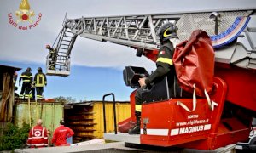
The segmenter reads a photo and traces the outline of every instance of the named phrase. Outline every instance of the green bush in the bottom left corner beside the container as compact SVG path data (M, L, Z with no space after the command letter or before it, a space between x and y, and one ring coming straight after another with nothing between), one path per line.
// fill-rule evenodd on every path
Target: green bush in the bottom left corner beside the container
M23 127L19 128L12 123L8 123L3 129L3 137L0 137L0 150L15 150L24 148L30 126L23 123Z

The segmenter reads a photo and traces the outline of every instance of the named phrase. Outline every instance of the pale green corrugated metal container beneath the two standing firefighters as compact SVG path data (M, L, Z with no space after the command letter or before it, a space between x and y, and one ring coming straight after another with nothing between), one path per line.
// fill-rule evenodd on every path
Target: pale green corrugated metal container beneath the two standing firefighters
M30 109L29 109L30 107ZM15 125L22 127L22 123L36 125L39 118L43 120L43 126L51 133L59 127L60 120L63 118L64 105L57 102L20 102L15 104ZM30 119L31 118L31 119Z

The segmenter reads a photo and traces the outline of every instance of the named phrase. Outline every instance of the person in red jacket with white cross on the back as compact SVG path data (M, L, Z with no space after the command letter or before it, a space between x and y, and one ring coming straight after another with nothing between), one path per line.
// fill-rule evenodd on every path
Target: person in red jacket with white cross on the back
M42 126L43 122L38 119L37 125L29 132L27 145L30 148L41 148L48 146L47 129Z

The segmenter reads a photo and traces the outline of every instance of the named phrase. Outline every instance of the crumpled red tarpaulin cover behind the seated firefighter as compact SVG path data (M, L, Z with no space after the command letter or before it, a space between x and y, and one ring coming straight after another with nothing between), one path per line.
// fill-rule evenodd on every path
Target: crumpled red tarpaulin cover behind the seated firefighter
M204 97L204 89L212 90L214 75L214 49L206 31L195 30L189 40L175 48L173 63L177 81L183 90Z

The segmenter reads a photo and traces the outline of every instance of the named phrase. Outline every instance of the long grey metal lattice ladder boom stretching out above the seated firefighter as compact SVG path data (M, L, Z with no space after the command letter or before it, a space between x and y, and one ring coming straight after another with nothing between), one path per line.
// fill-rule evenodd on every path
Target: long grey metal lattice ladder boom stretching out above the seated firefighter
M212 39L212 45L216 50L216 61L222 63L234 63L240 67L256 68L256 61L253 61L255 53L255 44L251 33L256 31L255 24L250 24L251 20L256 21L256 8L244 8L241 10L230 11L220 10L218 12L202 11L190 13L170 13L170 14L137 14L123 16L106 16L106 17L82 17L79 19L68 19L65 22L62 31L69 29L73 33L73 41L77 35L80 37L90 38L101 42L112 42L136 49L154 50L160 47L157 31L160 26L166 22L172 22L177 25L177 35L181 41L189 39L192 31L201 29L207 31ZM245 37L244 37L245 36ZM60 44L64 37L60 37ZM241 59L232 59L236 53L234 48L226 49L231 42L241 41L242 59L250 59L242 62ZM73 41L69 45L73 46ZM246 48L244 42L249 44ZM61 48L58 44L57 50ZM67 55L70 54L71 48L67 48ZM224 48L224 49L223 49ZM228 54L225 52L227 51ZM239 51L240 52L240 51ZM240 53L239 53L240 55ZM69 56L65 61L69 61ZM67 69L69 73L69 69Z

